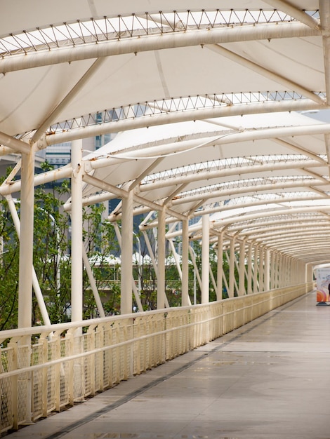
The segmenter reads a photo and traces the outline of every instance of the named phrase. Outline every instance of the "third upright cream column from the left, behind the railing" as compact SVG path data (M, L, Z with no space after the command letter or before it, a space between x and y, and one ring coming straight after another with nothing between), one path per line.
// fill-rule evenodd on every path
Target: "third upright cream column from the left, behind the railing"
M133 307L133 191L122 200L121 215L121 314L131 313Z

